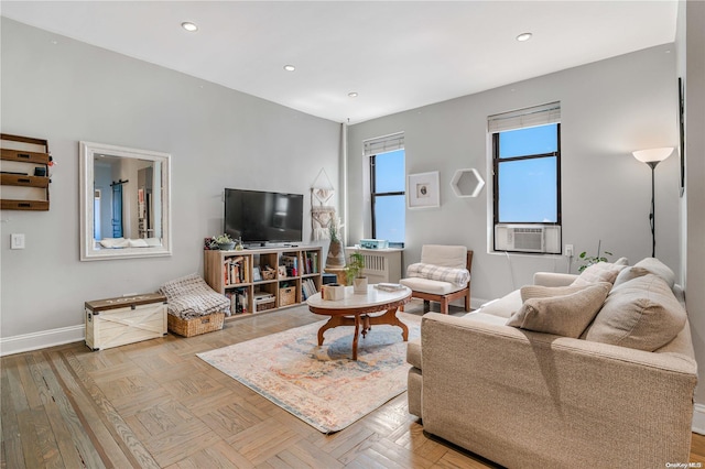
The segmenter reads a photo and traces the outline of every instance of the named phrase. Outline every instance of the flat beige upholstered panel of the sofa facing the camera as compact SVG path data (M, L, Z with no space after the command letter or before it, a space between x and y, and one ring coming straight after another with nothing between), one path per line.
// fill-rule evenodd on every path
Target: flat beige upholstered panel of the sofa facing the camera
M506 467L690 457L695 361L429 313L424 429ZM654 428L659 428L654 432Z

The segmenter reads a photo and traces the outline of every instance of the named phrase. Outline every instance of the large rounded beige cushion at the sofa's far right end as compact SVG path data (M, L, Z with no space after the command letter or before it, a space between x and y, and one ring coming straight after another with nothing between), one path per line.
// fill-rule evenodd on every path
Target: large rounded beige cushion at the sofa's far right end
M583 336L596 342L653 351L673 340L686 319L671 287L650 273L614 287Z

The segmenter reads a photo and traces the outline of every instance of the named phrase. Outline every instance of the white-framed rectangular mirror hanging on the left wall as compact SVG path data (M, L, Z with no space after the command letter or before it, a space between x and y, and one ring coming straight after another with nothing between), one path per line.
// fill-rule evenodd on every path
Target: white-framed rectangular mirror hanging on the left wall
M171 155L80 142L80 260L171 255Z

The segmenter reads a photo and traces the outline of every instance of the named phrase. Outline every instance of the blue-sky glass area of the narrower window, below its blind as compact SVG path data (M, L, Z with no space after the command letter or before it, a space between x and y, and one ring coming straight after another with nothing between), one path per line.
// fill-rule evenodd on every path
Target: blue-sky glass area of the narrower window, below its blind
M375 157L377 194L405 190L404 150L380 153ZM405 196L375 197L375 238L389 242L404 242Z

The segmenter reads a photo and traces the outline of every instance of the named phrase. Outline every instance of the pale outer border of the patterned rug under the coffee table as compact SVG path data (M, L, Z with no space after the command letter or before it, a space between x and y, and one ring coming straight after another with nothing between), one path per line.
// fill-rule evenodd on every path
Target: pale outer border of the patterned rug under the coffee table
M415 337L419 337L420 334L420 328L421 328L421 316L417 315L413 315L413 314L409 314L409 313L398 313L398 316L400 319L402 319L404 321L404 324L406 324L409 326L409 339L412 340ZM406 391L406 382L405 379L403 381L403 385L400 385L398 389L394 390L390 390L389 393L383 393L381 394L378 399L376 399L375 401L366 401L366 403L368 404L367 407L364 411L360 411L358 413L355 413L352 415L346 416L346 418L337 422L337 424L333 425L333 424L327 424L326 422L323 421L318 421L315 418L315 416L310 416L306 415L305 413L303 413L302 408L297 408L295 406L292 406L289 402L283 401L280 396L276 396L275 394L272 393L272 391L268 391L265 389L263 389L261 385L259 385L258 383L253 382L250 377L247 375L247 371L246 372L237 372L237 371L232 371L232 370L226 370L223 367L218 366L217 360L213 359L214 355L223 355L226 353L227 351L230 351L231 353L237 350L237 349L242 349L242 348L248 348L248 347L253 347L256 345L258 345L259 342L269 342L270 347L271 346L275 346L278 343L278 337L293 337L294 341L296 341L296 337L308 337L308 336L313 336L313 342L314 342L314 347L316 350L323 351L323 350L327 350L326 347L333 347L332 341L334 342L335 340L340 340L340 338L346 338L349 337L349 340L351 341L351 336L352 336L352 327L337 327L334 329L328 329L326 331L326 338L324 341L324 345L322 347L317 347L317 339L316 339L316 331L318 330L318 328L324 325L326 323L326 319L321 320L321 321L316 321L316 323L312 323L305 326L299 326L299 327L294 327L291 329L286 329L283 330L281 332L274 332L274 334L270 334L267 336L262 336L262 337L258 337L254 339L250 339L243 342L238 342L238 343L234 343L231 346L227 346L227 347L221 347L218 349L214 349L214 350L209 350L207 352L200 352L200 353L196 353L196 356L202 359L203 361L205 361L206 363L210 364L212 367L214 367L215 369L219 370L221 373L226 374L227 377L236 380L237 382L246 385L247 388L249 388L250 390L254 391L256 393L258 393L259 395L261 395L262 397L269 400L270 402L276 404L278 406L280 406L281 408L283 408L284 411L289 412L290 414L294 415L295 417L300 418L301 421L307 423L308 425L311 425L312 427L316 428L317 430L324 433L324 434L330 434L330 433L335 433L335 432L339 432L344 428L346 428L347 426L351 425L352 423L357 422L358 419L362 418L365 415L368 415L369 413L373 412L375 410L379 408L380 406L384 405L387 402L389 402L390 400L394 399L395 396L402 394L404 391ZM392 330L391 328L393 326L375 326L372 331L370 331L370 335L368 335L368 339L371 337L371 334L375 331L376 328L380 328L380 327L384 327L388 328L387 334L389 334L389 330ZM297 331L303 331L306 329L311 329L311 331L308 332L308 335L304 335L302 336L301 334L296 334ZM399 337L399 341L401 343L403 343L403 357L401 357L401 359L403 360L403 364L401 367L403 367L403 371L404 371L404 377L405 377L405 372L408 372L409 368L411 368L411 366L409 363L405 362L405 350L406 350L406 343L408 342L403 342L401 341L401 329L399 327L393 327L393 329L395 329L397 331L400 332L400 337ZM313 332L313 334L312 334ZM332 334L333 332L333 334ZM332 340L332 337L334 338ZM338 339L336 339L335 337L338 337ZM398 343L389 343L386 346L387 348L399 348ZM344 363L348 363L348 364L355 364L355 366L360 366L362 367L364 363L366 363L365 359L366 359L366 355L365 355L366 348L365 348L365 339L362 339L360 337L360 341L359 341L359 348L358 348L358 361L354 362L350 357L349 357L349 350L347 353L347 357L340 357L340 358L334 358L332 360L329 360L330 362L340 362L341 366L344 366ZM315 357L311 357L311 359L314 359ZM398 366L399 367L399 366ZM398 368L392 368L391 371L398 371Z

